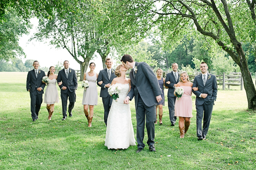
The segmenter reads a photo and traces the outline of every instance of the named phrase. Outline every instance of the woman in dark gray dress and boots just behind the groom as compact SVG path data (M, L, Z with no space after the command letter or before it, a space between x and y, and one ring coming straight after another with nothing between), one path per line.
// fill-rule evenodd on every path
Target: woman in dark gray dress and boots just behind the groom
M156 71L156 78L158 80L158 83L159 83L159 86L162 90L162 94L161 94L161 97L162 97L162 100L158 103L156 103L156 123L157 124L157 108L159 110L159 124L162 125L163 122L162 122L162 117L163 117L163 105L164 105L164 86L165 86L165 78L162 77L163 75L163 70L162 69L157 69ZM165 88L168 88L165 86Z

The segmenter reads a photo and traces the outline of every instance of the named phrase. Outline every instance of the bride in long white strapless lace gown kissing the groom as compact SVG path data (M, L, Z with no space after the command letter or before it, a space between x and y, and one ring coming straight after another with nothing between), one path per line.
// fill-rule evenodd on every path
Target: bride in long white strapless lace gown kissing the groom
M126 71L124 65L117 66L115 71L117 77L111 83L111 85L118 84L122 90L119 98L113 100L107 118L105 146L108 149L126 149L131 145L136 145L130 105L123 103L131 89L131 80L125 77Z

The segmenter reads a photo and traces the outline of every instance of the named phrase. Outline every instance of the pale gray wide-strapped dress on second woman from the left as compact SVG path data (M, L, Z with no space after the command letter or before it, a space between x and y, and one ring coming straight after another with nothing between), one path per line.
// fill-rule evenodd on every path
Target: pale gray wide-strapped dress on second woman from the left
M98 104L98 91L96 86L97 76L96 73L94 73L93 76L89 76L88 73L86 73L86 80L89 82L89 87L84 90L83 105L97 105ZM84 88L83 88L84 89Z

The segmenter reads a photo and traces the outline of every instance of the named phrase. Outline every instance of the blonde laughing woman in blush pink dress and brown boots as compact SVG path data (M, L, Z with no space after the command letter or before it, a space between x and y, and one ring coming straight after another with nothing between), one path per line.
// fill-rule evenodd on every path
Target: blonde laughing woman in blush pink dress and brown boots
M184 94L180 98L176 98L174 111L175 116L179 116L179 129L180 129L180 138L184 138L184 135L187 133L190 125L190 118L192 115L192 85L189 81L189 77L186 71L180 73L180 82L176 87L182 87L184 89ZM198 88L193 88L195 91ZM174 95L175 90L174 90ZM185 122L184 122L185 121Z

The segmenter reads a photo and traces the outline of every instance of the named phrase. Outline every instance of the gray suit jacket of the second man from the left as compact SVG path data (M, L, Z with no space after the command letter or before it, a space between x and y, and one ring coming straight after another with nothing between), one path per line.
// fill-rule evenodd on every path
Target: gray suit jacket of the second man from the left
M69 68L69 73L68 73L68 78L66 76L66 73L65 73L65 69L62 69L61 71L59 71L59 74L58 74L58 78L57 78L57 82L61 82L62 81L62 85L60 85L60 89L65 86L67 87L66 90L60 90L61 93L67 93L68 90L70 92L73 92L77 89L77 76L76 76L76 73L75 73L75 70L73 69L70 69Z

